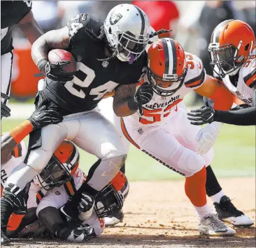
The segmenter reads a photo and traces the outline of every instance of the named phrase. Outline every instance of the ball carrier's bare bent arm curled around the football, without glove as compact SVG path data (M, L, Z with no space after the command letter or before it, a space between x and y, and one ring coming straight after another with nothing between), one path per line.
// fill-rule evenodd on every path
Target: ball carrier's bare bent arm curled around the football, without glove
M45 74L48 62L48 52L52 49L69 48L69 28L65 26L59 30L51 30L40 36L32 45L31 56L39 70Z

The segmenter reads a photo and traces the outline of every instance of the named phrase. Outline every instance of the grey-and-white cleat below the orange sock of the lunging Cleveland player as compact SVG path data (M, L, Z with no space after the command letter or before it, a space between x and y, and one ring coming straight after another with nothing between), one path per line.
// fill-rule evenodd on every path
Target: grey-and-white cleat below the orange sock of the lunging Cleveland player
M198 225L200 234L209 236L233 236L236 231L223 223L214 213L206 215Z

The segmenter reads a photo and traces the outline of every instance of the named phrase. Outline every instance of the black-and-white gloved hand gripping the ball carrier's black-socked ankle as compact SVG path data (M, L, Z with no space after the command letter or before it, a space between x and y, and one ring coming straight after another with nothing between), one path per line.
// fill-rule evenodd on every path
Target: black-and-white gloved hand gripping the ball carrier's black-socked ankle
M87 220L87 218L91 217L94 203L95 200L92 195L89 195L88 193L82 193L81 200L78 204L80 220Z

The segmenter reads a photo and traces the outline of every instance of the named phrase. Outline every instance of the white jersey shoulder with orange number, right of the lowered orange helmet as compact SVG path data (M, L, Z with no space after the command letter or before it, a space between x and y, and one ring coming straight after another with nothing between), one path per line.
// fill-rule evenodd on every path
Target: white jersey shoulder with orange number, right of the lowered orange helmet
M184 84L187 88L197 89L200 87L206 78L206 72L202 60L185 51L187 75Z

